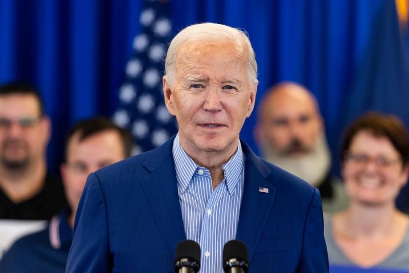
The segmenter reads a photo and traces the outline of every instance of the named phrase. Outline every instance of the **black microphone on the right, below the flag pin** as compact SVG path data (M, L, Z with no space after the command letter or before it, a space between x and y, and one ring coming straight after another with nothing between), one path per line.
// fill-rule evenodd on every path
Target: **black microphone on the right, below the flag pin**
M228 273L246 273L248 270L247 247L243 242L232 240L223 247L223 270Z

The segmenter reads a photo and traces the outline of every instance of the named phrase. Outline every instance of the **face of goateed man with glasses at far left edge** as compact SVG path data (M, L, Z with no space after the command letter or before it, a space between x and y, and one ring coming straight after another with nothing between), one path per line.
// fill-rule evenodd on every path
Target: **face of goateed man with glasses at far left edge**
M0 162L21 169L41 160L50 138L50 121L40 115L33 95L0 96Z

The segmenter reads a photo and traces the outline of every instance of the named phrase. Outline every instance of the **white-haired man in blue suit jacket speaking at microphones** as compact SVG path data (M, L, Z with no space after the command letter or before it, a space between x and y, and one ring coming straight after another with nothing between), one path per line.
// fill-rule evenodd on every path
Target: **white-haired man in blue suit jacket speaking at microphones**
M222 272L234 239L247 246L249 272L327 272L319 192L239 140L257 90L245 33L189 26L172 40L165 71L179 132L90 174L67 272L174 272L186 239L200 245L200 272Z

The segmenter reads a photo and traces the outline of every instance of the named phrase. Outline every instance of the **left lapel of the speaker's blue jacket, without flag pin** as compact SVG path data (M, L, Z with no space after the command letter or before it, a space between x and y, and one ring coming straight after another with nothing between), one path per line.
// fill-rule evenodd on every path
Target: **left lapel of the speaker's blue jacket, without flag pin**
M173 139L156 149L143 163L152 172L141 181L142 187L171 257L177 244L186 240L177 193L176 171L172 156Z

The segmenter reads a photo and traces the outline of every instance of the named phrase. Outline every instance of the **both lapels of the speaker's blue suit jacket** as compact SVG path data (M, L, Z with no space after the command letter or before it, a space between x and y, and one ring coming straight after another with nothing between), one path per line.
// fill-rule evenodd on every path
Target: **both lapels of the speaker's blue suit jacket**
M186 240L185 227L177 193L177 180L172 156L173 137L161 148L152 151L143 163L151 172L141 181L153 217L158 225L171 257L177 244ZM236 239L245 243L248 259L251 260L257 243L271 211L276 187L266 178L270 170L259 157L242 141L246 155L244 169L244 191L240 206L240 217ZM268 193L260 192L267 188Z

